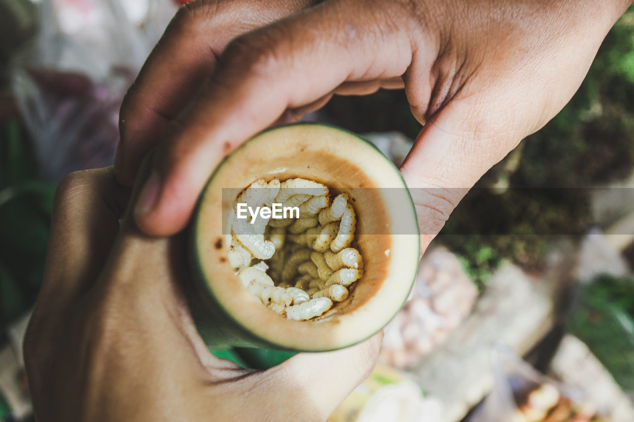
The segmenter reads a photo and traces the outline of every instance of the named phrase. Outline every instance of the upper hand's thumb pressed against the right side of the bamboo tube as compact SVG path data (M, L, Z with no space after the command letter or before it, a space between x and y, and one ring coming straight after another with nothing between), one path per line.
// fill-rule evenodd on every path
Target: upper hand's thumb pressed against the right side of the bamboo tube
M519 131L500 131L474 108L460 99L448 103L418 134L401 166L416 208L422 251L475 182L523 137Z

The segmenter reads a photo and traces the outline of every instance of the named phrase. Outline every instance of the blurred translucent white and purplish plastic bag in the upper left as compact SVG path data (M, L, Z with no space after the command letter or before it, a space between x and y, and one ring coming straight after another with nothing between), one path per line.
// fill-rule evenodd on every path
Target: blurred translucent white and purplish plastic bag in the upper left
M175 10L169 0L41 1L13 92L44 179L112 164L123 96Z

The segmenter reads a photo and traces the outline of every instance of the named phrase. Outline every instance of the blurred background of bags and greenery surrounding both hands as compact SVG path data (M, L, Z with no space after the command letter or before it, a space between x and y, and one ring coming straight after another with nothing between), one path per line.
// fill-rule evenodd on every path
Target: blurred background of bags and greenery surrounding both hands
M55 186L113 162L121 99L180 1L0 0L0 421L32 420L22 336ZM404 93L307 120L398 165ZM491 169L420 263L332 421L634 421L634 8L572 101Z

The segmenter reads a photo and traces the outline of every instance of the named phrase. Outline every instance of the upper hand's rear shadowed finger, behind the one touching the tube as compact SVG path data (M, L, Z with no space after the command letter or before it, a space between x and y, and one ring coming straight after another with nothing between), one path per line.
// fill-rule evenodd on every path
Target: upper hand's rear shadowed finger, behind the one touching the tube
M119 116L115 170L131 186L146 153L209 77L236 36L312 3L309 0L191 1L165 30L126 94Z

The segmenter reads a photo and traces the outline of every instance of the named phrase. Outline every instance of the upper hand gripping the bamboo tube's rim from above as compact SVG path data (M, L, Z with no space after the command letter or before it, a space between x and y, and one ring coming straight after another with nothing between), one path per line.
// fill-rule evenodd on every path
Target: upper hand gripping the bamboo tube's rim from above
M129 93L115 168L131 182L157 146L135 218L145 233L176 233L212 169L245 139L333 93L404 86L425 123L401 172L410 188L424 188L412 193L426 246L475 181L569 101L629 3L330 0L269 23L254 22L249 2L193 2ZM228 22L244 20L264 26L224 48L243 29L227 31ZM188 43L214 54L182 59ZM172 87L173 67L182 70L173 85L187 80L186 89ZM156 98L174 107L165 112ZM161 124L144 128L157 114Z

